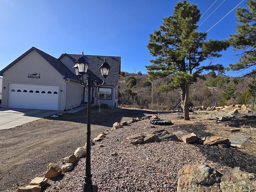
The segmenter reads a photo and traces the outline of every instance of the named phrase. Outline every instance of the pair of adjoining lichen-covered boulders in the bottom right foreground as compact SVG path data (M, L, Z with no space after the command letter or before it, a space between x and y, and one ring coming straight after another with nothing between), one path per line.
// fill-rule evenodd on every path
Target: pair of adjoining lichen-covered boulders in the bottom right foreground
M177 192L255 192L256 178L240 168L222 171L206 164L187 165L178 172Z

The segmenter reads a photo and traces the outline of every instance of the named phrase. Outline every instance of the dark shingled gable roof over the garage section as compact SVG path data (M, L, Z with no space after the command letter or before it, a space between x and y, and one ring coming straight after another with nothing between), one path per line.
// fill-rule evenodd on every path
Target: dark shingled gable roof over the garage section
M64 79L72 79L72 80L78 80L78 77L68 69L68 67L66 65L64 65L60 60L54 58L53 56L50 56L49 54L42 52L41 50L32 47L30 48L27 52L25 52L24 54L22 54L21 56L19 56L16 60L14 60L11 64L9 64L8 66L6 66L3 70L0 71L0 76L3 75L3 73L8 70L9 68L11 68L14 64L16 64L18 61L20 61L22 58L24 58L25 56L27 56L30 52L32 52L33 50L35 50L36 52L38 52L38 54L40 54L49 64L51 64L63 77Z

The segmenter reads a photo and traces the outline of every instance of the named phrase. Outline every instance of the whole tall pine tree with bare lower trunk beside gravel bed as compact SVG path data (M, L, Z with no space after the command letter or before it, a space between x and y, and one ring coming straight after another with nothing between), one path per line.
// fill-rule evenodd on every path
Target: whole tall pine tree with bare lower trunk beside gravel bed
M223 70L220 64L212 64L212 59L220 57L220 51L229 44L224 40L206 40L205 32L198 32L197 22L200 10L196 4L178 2L172 16L163 19L163 24L154 34L150 34L147 45L152 56L152 65L146 66L149 79L165 78L166 84L159 91L178 88L184 110L184 120L189 120L189 85L196 82L203 70ZM207 66L201 62L209 60Z

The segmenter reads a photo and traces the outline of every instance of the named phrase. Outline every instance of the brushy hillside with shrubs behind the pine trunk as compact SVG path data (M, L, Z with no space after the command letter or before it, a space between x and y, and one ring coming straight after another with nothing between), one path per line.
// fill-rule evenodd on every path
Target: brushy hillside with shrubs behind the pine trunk
M150 110L173 110L180 100L178 90L158 92L164 80L147 80L147 74L121 72L119 76L118 106L129 106ZM191 106L217 106L248 104L251 96L248 84L251 78L235 78L209 72L190 85L189 103ZM153 87L153 92L152 92ZM152 105L153 95L153 105Z

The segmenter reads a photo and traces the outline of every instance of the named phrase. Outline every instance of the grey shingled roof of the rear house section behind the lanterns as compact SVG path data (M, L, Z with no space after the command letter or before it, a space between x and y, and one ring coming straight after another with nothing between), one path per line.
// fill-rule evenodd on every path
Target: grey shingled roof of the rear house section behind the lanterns
M77 54L62 54L60 58L67 55L71 60L76 62L76 60L81 57L82 55ZM101 75L101 72L99 70L99 67L104 62L104 58L106 58L106 62L110 65L110 71L109 74L105 80L106 84L109 85L117 85L118 84L118 76L120 74L121 69L121 57L118 56L97 56L97 55L84 55L86 58L88 58L89 66L88 66L88 72L92 79L103 82L104 78ZM58 58L58 59L60 59Z

